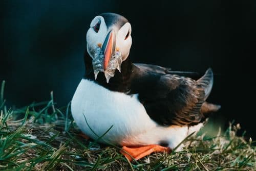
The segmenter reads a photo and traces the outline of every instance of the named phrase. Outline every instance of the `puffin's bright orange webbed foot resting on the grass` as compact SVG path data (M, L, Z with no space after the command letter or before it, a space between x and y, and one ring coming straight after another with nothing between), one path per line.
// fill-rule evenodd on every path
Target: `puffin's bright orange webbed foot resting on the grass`
M146 145L146 146L140 146L140 147L132 147L128 148L126 146L123 146L122 150L120 152L130 161L133 160L139 160L142 157L145 157L147 155L150 155L153 152L158 152L158 153L164 153L170 152L170 148L164 147L161 145ZM132 158L133 157L133 158Z

